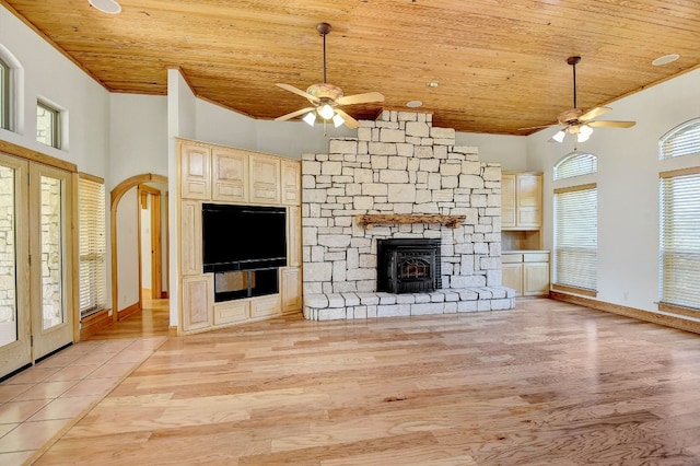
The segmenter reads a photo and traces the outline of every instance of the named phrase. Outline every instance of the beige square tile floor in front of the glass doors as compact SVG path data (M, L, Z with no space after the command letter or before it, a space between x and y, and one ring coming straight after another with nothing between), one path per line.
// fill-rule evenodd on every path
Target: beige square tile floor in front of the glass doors
M165 340L79 342L0 383L0 466L35 461Z

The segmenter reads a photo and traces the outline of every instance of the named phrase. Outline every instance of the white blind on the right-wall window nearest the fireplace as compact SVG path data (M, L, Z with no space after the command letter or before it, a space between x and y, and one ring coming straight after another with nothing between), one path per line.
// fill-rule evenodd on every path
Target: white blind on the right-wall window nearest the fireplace
M595 290L598 255L596 185L555 190L555 282Z

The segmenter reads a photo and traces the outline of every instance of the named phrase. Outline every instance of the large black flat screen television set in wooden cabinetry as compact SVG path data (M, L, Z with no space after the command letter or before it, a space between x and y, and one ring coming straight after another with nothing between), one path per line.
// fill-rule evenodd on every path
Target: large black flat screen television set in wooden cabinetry
M202 205L205 272L287 266L287 209Z

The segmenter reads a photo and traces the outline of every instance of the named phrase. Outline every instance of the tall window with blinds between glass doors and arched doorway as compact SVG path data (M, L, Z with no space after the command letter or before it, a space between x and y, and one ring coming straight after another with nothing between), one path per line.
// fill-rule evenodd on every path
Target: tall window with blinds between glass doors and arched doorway
M81 318L106 307L105 185L81 173L78 180L79 296Z

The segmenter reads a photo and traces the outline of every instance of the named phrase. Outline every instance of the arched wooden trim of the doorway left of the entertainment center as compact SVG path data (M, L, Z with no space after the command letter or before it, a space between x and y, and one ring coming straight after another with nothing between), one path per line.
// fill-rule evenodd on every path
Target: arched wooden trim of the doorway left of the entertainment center
M110 206L110 212L109 212L109 217L110 217L110 235L112 235L112 302L113 302L113 321L117 322L120 318L125 318L126 316L128 316L129 314L131 314L132 310L126 308L126 310L120 310L119 306L119 265L118 265L118 256L119 256L119 252L118 252L118 218L117 218L117 213L118 213L118 208L119 208L119 201L122 199L122 197L125 197L125 195L127 195L128 193L131 191L131 189L138 188L138 186L140 185L145 185L145 184L164 184L167 185L167 177L162 176L162 175L155 175L152 173L149 174L142 174L142 175L136 175L132 176L130 178L125 179L124 182L119 183L110 193L110 201L112 201L112 206ZM135 203L136 206L136 203ZM138 212L137 212L138 213ZM129 219L129 221L133 221L135 224L139 223L139 219L136 217L132 219ZM133 251L135 256L138 256L138 248ZM163 256L164 260L167 261L167 255L165 254ZM138 258L137 258L138 260ZM167 266L164 267L165 270L167 270ZM138 293L139 293L139 298L138 298L138 308L141 308L142 305L142 296L141 296L141 288L140 288L140 283L138 284ZM124 313L120 315L120 311L124 311Z

